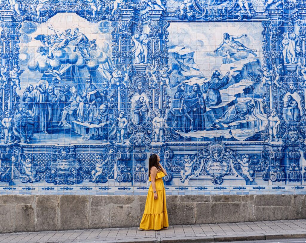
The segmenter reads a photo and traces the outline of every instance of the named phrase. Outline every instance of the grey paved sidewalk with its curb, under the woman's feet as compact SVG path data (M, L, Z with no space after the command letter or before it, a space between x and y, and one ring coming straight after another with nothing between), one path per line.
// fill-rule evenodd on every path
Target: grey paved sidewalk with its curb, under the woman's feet
M306 237L306 219L261 221L246 223L219 223L174 225L167 230L140 231L137 228L95 230L67 230L0 234L4 242L144 242L191 243L271 240Z

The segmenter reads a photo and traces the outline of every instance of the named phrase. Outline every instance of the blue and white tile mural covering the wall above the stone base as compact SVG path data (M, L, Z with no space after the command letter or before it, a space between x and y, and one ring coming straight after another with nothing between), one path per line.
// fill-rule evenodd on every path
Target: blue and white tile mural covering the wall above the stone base
M0 193L306 193L304 0L2 0Z

